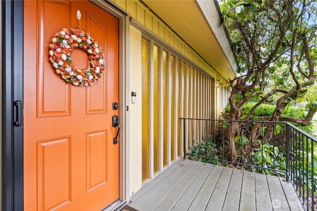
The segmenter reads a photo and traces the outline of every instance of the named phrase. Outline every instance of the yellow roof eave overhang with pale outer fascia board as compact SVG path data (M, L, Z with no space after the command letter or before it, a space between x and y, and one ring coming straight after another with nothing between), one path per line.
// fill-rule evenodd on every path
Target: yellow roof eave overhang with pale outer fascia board
M238 68L232 44L213 0L143 0L225 80Z

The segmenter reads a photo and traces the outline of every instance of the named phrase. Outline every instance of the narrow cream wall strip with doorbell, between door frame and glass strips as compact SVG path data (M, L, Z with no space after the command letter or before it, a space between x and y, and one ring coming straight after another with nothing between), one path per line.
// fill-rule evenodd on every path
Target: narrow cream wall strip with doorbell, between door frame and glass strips
M130 101L130 196L142 185L142 72L141 32L130 26L130 91L136 91L136 103ZM131 95L131 93L130 93ZM131 100L131 99L130 99Z

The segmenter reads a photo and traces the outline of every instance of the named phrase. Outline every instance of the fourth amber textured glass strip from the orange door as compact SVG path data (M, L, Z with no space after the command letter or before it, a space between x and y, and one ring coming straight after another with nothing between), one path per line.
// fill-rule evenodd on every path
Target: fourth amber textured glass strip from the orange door
M170 120L171 120L171 132L170 132L170 160L173 161L174 158L175 158L175 153L174 153L174 150L175 150L175 139L174 139L174 135L175 135L175 132L174 132L174 129L175 129L175 70L174 70L174 56L170 56L170 98L171 98L171 104L170 104L170 113L171 113L171 117L170 117Z

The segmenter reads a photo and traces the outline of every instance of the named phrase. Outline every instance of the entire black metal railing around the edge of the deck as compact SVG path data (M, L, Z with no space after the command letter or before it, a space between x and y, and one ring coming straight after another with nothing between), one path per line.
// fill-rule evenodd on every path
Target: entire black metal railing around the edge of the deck
M285 177L293 184L304 209L317 210L317 138L313 135L284 122L180 120L184 159ZM233 130L234 161L228 138Z

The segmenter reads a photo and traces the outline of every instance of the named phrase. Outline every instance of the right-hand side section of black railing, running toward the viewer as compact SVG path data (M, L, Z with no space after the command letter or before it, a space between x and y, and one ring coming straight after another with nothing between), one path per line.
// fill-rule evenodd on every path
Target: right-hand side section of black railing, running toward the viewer
M317 138L302 129L286 124L286 179L293 187L306 210L317 210ZM315 158L314 158L315 157Z

